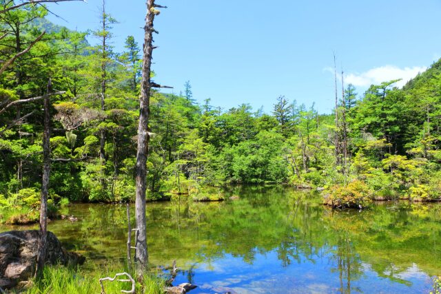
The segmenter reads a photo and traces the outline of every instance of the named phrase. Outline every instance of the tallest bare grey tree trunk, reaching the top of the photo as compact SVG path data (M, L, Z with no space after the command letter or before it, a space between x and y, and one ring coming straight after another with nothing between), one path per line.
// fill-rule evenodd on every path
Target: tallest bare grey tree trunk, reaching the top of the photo
M150 140L149 117L150 117L150 91L152 82L150 81L152 52L153 52L153 21L159 14L158 7L154 0L147 0L147 15L144 27L144 48L143 48L143 76L141 81L141 101L139 109L138 126L138 150L136 152L136 199L135 199L135 219L136 219L136 271L142 274L148 266L147 253L147 231L145 220L145 190L147 178L147 151Z

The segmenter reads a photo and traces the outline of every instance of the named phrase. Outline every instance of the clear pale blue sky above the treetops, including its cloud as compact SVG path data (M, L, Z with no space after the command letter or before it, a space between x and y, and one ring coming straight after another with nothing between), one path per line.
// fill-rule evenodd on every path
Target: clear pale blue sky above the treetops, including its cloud
M48 8L59 25L99 26L101 0L61 2ZM371 83L407 80L441 57L440 0L157 0L156 82L178 94L185 81L200 103L229 109L249 103L271 112L276 98L331 112L338 70L361 94ZM106 0L114 46L134 35L143 43L145 1ZM93 39L90 39L93 43Z

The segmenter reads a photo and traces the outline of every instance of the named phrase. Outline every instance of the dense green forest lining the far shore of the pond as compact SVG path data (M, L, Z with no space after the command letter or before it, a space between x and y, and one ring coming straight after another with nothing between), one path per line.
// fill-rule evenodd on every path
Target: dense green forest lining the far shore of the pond
M0 1L0 223L39 222L47 165L49 218L74 203L135 202L143 46L129 35L114 50L105 6L94 30L78 32L48 21L45 6L13 5ZM277 93L271 112L223 109L194 97L191 81L176 94L152 82L147 202L223 201L225 189L256 185L318 190L336 210L440 201L441 60L404 87L362 93L334 74L331 114Z

